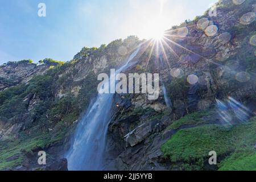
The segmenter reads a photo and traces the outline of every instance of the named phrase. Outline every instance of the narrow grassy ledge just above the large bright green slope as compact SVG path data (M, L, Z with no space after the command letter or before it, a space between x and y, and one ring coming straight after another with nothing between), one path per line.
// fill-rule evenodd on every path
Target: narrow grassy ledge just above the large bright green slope
M201 125L207 123L202 117L209 114L209 111L198 111L192 114L185 115L183 118L174 121L168 128L169 129L179 129L183 125Z

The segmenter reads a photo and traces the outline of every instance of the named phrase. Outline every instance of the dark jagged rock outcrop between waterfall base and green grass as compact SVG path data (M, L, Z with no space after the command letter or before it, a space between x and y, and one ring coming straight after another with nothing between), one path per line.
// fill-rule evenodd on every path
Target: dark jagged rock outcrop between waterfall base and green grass
M109 151L109 170L167 170L163 164L160 147L166 142L174 131L163 130L170 125L171 119L164 118L138 126L125 136L126 146L115 158ZM114 143L117 145L115 141ZM117 147L116 147L117 148Z

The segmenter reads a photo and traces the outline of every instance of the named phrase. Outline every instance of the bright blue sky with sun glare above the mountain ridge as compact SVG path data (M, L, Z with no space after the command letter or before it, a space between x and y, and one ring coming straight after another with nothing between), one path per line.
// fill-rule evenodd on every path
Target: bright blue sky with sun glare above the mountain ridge
M38 4L46 4L46 17ZM0 0L0 64L51 57L68 61L82 47L112 40L202 15L217 0Z

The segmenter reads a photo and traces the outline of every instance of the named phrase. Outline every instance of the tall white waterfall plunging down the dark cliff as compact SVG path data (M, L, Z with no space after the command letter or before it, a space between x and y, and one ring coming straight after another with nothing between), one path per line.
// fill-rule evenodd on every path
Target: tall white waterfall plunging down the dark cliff
M126 64L115 74L125 71L135 63L131 60L138 54L140 46L130 55ZM114 81L115 80L110 80ZM98 94L79 122L75 138L66 158L69 170L101 170L105 150L106 135L111 117L114 94Z

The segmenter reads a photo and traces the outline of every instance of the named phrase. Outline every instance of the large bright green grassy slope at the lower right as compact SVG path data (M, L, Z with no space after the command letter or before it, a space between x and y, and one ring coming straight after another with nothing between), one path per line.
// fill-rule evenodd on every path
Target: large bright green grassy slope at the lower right
M181 169L207 169L209 152L216 151L220 170L255 169L256 117L225 128L209 125L178 131L161 147L164 158ZM246 165L245 165L246 163Z

